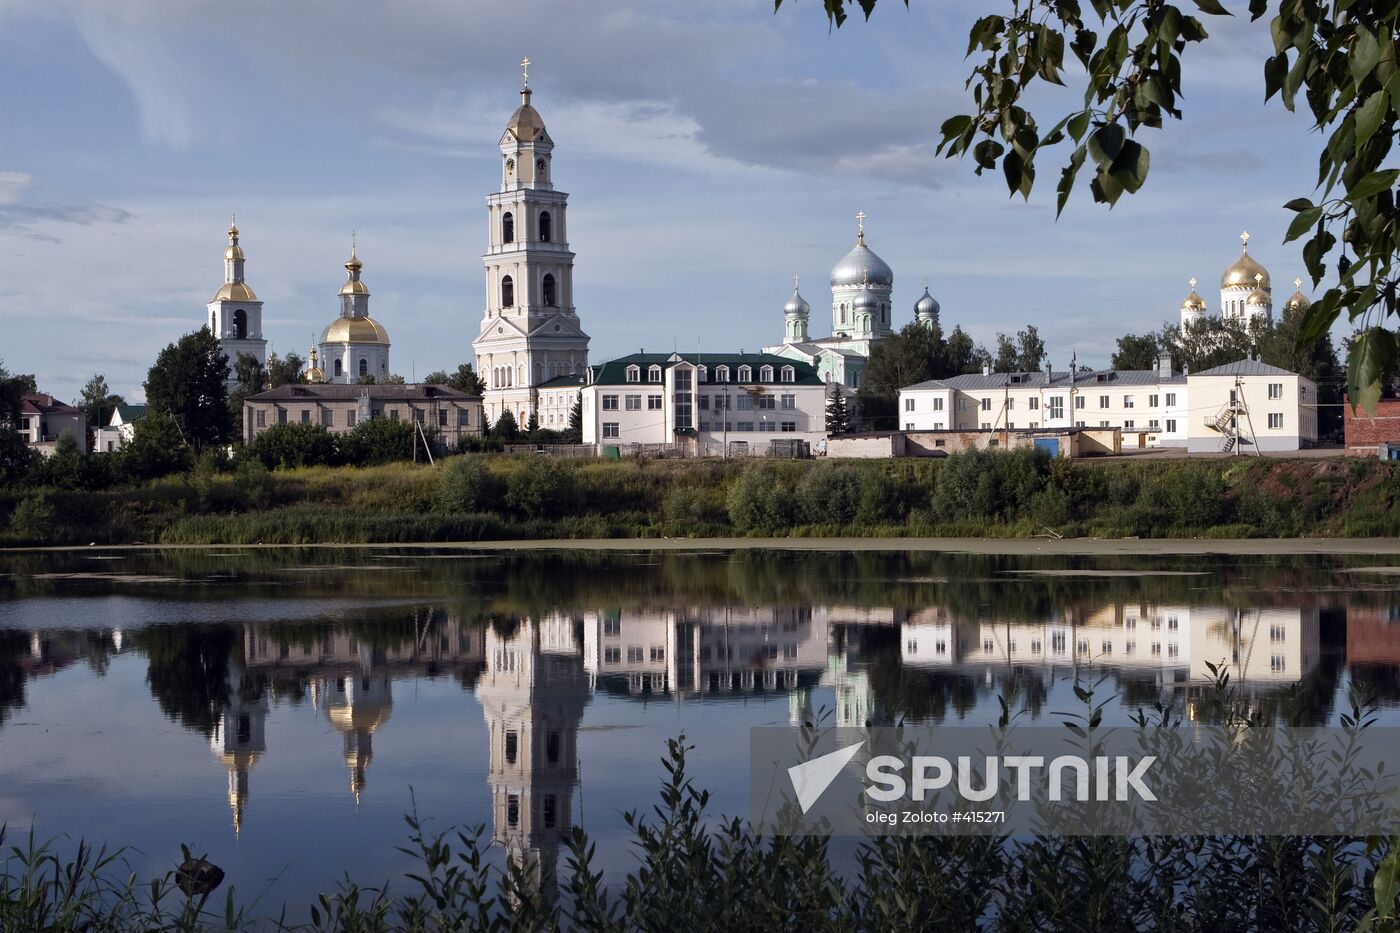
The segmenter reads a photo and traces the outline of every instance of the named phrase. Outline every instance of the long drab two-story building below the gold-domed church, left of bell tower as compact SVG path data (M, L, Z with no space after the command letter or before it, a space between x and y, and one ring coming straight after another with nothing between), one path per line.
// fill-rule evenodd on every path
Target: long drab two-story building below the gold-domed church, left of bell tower
M347 434L374 417L414 422L437 431L444 444L482 433L482 396L447 385L288 382L244 401L244 441L273 424L322 424Z

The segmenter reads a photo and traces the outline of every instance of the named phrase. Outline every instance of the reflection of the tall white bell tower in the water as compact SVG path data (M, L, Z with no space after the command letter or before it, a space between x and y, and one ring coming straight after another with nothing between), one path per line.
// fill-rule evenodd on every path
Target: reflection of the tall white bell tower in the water
M493 842L532 891L553 901L560 841L574 825L578 726L588 702L582 647L567 616L497 625L486 633L476 685L491 742Z

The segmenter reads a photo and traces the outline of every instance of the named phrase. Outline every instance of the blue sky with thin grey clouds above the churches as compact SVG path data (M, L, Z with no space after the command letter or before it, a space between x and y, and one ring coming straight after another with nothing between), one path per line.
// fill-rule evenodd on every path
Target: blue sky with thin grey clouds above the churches
M777 343L792 276L827 335L858 210L896 326L927 275L945 331L1033 324L1056 367L1177 319L1193 275L1215 311L1246 228L1277 311L1303 273L1281 205L1319 141L1263 99L1267 21L1208 17L1184 122L1140 134L1147 186L1109 210L1082 178L1057 221L1053 153L1029 203L934 154L970 109L967 29L1007 6L885 0L829 29L816 0L0 0L0 360L59 398L94 373L143 398L237 212L270 350L336 317L353 230L391 368L472 361L525 56L595 363ZM1036 95L1043 125L1070 84Z

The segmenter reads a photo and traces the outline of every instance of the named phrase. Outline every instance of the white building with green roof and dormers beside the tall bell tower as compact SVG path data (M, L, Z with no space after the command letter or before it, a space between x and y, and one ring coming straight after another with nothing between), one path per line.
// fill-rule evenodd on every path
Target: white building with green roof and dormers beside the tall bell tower
M764 454L770 441L826 438L826 387L771 353L633 353L585 373L582 443L690 445Z

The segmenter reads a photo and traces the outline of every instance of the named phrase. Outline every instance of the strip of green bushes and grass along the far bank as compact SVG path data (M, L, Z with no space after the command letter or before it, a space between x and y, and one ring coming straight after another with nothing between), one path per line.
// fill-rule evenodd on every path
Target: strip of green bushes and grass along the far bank
M92 461L104 455L88 455ZM206 452L154 479L52 464L0 488L0 545L659 537L1246 538L1400 534L1379 459L438 462L273 468Z

